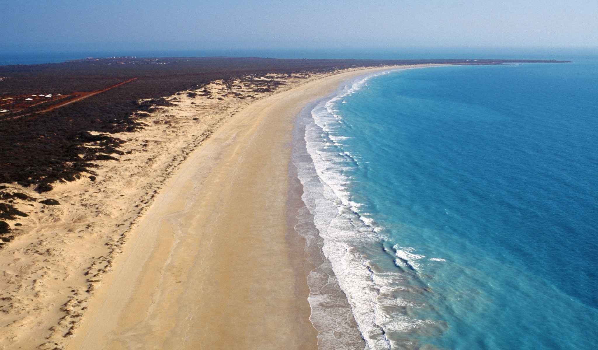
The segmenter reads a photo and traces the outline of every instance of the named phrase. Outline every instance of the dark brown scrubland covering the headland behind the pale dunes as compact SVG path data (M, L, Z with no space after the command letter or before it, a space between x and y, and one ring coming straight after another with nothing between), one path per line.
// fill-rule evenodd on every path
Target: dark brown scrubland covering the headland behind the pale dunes
M14 118L0 115L0 183L17 182L33 186L38 192L52 189L56 181L79 179L81 173L95 175L97 161L115 160L123 155L124 142L112 133L135 131L144 127L139 121L144 112L168 105L163 99L178 91L216 79L232 84L233 78L266 73L325 73L362 66L453 63L495 65L521 60L304 60L260 58L166 58L166 59L86 59L47 65L0 66L0 97L20 94L70 94L94 91L131 78L128 84L46 113ZM555 62L555 61L550 61ZM273 91L273 82L260 90ZM277 82L276 84L283 84ZM201 91L201 90L200 90ZM199 96L209 95L197 93ZM196 93L189 94L193 97ZM237 96L237 98L251 96ZM208 96L212 98L212 96ZM220 99L218 96L214 98ZM140 99L152 99L138 103ZM133 113L138 112L138 113ZM100 133L93 135L90 131ZM86 147L92 143L94 148Z

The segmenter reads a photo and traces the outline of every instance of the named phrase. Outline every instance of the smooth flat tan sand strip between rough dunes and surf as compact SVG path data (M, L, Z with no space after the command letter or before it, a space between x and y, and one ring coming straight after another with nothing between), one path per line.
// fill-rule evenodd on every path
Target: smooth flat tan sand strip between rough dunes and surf
M388 69L307 82L218 128L130 233L68 349L316 349L304 242L288 222L294 118Z

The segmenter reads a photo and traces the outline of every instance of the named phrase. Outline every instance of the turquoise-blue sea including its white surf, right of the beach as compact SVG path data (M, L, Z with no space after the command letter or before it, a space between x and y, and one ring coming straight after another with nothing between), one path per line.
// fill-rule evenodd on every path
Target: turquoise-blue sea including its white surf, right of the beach
M304 118L303 200L368 348L598 348L598 57L362 76Z

